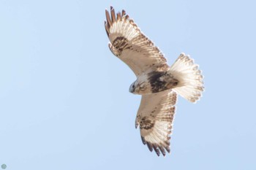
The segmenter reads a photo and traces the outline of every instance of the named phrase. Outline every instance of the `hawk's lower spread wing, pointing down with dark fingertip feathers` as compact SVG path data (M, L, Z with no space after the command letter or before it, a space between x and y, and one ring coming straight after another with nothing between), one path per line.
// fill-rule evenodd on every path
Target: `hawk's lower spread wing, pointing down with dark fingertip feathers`
M177 95L174 91L162 91L144 95L135 121L135 127L140 126L143 144L157 155L165 156L165 150L170 152L170 134L173 127Z

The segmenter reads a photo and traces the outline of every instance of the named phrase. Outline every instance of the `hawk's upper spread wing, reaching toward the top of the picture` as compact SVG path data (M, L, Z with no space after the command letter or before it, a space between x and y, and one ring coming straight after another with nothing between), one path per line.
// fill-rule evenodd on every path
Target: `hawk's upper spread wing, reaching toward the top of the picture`
M115 13L106 9L105 29L110 39L109 47L114 55L127 63L136 76L149 70L167 71L169 66L161 51L154 46L126 12Z

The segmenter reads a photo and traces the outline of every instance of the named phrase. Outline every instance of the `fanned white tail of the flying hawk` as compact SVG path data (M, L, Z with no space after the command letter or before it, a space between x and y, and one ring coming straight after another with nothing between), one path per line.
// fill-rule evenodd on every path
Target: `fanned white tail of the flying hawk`
M173 66L170 67L170 73L178 80L178 85L173 88L176 93L195 103L203 92L203 76L189 55L181 53Z

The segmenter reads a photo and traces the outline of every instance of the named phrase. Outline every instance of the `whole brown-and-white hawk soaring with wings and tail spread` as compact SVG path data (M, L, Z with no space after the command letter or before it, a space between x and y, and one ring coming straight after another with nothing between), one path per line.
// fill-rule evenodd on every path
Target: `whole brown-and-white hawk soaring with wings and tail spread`
M141 95L135 128L143 144L159 156L170 153L170 134L177 94L195 103L203 92L203 76L189 55L181 53L172 66L124 10L105 10L111 52L124 61L137 80L129 92Z

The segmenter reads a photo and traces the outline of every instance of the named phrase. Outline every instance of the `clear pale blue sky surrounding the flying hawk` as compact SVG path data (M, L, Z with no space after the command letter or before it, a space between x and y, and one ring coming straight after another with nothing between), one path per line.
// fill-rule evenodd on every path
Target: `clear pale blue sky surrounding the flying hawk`
M178 98L165 158L135 129L132 71L108 49L105 9L126 9L168 63L200 65ZM0 0L0 165L8 169L256 169L256 2Z

